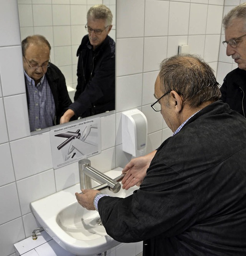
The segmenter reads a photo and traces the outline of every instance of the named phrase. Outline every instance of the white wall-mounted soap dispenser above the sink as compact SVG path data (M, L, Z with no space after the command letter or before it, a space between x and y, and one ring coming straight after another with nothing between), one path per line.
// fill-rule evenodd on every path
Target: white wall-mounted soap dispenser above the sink
M122 112L122 149L138 157L146 154L148 124L138 109Z

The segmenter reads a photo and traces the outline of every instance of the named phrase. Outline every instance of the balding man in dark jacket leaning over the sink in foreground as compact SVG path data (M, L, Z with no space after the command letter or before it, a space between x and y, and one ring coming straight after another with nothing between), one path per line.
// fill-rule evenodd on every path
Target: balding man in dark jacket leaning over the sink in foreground
M143 256L245 255L246 119L219 100L213 70L194 55L163 60L155 97L173 136L140 189L126 198L83 190L78 202L98 210L113 239L143 241Z

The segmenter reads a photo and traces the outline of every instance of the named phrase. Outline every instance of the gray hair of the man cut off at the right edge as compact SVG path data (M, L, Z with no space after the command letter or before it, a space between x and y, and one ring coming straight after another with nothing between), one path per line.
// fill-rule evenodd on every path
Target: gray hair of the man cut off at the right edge
M223 18L222 24L224 29L231 26L234 19L241 19L244 21L244 29L246 29L246 3L241 3L231 9Z

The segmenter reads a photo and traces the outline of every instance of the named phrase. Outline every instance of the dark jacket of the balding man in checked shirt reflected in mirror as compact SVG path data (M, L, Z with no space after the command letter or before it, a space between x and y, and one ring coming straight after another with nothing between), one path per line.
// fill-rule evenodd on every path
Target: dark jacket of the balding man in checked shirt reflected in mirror
M50 89L55 102L55 120L54 125L60 124L60 118L64 114L64 112L68 109L68 106L72 103L68 90L66 88L65 77L62 74L61 70L58 69L54 64L50 64L47 72L45 73L48 83L50 85ZM27 105L29 107L28 101L28 89L26 84L26 92L27 92Z

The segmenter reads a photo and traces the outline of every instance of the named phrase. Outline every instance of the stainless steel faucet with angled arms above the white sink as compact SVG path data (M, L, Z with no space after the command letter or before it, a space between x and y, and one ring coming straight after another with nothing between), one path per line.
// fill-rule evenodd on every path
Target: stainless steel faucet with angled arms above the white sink
M123 179L125 176L125 174L121 174L116 179L111 179L102 172L91 167L91 161L88 159L82 159L78 161L78 169L80 176L80 189L102 190L108 188L113 193L117 193L121 188L121 185L118 181L121 181L121 179ZM102 184L91 188L91 179Z

